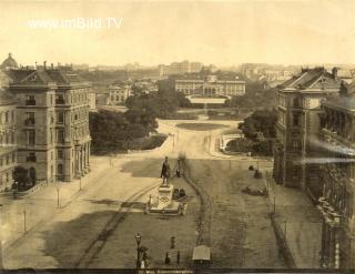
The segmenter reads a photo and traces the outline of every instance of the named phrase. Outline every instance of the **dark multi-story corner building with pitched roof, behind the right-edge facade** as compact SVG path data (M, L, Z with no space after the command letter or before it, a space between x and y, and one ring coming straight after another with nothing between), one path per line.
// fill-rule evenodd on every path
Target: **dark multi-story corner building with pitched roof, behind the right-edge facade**
M303 69L277 91L277 142L274 146L273 175L277 183L306 190L318 196L318 163L314 142L320 131L321 100L339 91L336 69Z

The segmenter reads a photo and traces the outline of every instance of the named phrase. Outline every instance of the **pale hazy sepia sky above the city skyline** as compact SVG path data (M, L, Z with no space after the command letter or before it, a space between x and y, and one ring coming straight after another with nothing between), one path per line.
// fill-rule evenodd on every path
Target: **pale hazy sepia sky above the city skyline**
M0 60L11 52L23 65L355 63L353 14L354 0L0 0ZM103 28L33 24L78 18Z

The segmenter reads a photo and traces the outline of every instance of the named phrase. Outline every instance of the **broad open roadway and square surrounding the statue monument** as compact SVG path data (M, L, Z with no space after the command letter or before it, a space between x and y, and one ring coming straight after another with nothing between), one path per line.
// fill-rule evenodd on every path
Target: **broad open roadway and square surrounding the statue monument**
M199 121L223 124L216 130L184 130L179 123L159 121L159 132L170 133L155 150L113 156L92 156L91 173L79 181L47 186L31 196L13 201L1 197L3 207L3 264L7 268L135 267L135 233L149 248L150 267L191 266L192 248L199 235L201 196L211 200L207 232L203 239L212 247L212 267L284 267L264 197L241 192L245 185L261 186L248 165L256 160L229 156L215 151L215 138L236 121ZM195 121L196 122L196 121ZM146 215L144 203L155 195L165 155L172 166L179 153L186 155L191 179L201 186L196 193L182 177L172 183L187 194L184 216ZM261 168L271 162L258 161ZM58 184L58 183L57 183ZM67 184L67 183L61 183ZM57 209L58 196L60 206ZM27 233L22 211L27 209ZM10 214L7 212L17 212ZM170 248L170 239L176 239ZM178 265L176 254L181 253ZM164 265L165 252L171 265Z

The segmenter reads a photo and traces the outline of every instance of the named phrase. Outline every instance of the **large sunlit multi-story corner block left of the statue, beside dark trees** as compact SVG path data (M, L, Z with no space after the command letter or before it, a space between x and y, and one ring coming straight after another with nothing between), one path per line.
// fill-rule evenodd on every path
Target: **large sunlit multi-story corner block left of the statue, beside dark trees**
M18 164L34 181L71 181L89 171L90 84L57 68L12 70Z

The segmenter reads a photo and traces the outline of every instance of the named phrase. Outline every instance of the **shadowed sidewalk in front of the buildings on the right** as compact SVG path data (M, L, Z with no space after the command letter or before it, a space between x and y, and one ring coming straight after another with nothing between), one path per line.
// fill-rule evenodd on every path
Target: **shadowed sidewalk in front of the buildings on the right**
M275 201L275 224L286 239L295 267L318 268L322 237L320 212L304 192L276 184L270 171L263 173L265 184L268 181L270 212L274 211Z

